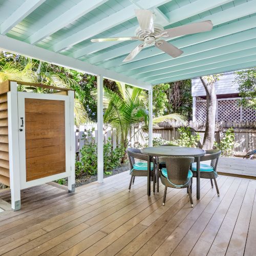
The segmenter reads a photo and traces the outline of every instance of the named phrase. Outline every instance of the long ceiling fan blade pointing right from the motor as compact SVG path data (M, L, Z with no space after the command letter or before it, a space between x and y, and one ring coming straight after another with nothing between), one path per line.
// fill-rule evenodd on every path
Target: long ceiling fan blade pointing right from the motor
M193 24L183 25L176 28L165 29L162 32L163 37L176 37L181 35L189 35L200 32L206 32L212 30L211 20L205 20L204 22L197 22Z

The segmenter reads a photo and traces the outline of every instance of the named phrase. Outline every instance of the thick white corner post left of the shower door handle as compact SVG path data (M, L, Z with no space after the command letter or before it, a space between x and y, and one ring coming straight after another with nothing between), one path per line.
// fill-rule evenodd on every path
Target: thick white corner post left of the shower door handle
M17 83L10 82L8 100L8 142L11 205L13 210L20 209L19 146L18 146L18 96Z

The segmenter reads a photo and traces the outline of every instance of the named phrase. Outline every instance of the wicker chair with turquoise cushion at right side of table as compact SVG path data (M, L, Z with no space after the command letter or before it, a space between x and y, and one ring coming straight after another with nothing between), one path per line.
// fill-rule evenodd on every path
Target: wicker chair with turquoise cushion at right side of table
M216 178L218 177L217 174L217 164L219 157L221 155L220 150L206 150L206 154L200 158L200 178L202 179L210 179L211 187L215 187L217 190L218 197L220 196L220 191L217 185ZM210 165L201 163L203 161L211 160ZM197 163L192 164L192 173L193 177L197 177ZM214 180L214 183L212 183Z

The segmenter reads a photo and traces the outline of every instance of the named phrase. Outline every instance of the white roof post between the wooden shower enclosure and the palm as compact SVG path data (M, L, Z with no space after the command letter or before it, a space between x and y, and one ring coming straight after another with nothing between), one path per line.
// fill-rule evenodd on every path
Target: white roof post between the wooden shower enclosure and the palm
M103 77L97 76L98 182L103 183Z

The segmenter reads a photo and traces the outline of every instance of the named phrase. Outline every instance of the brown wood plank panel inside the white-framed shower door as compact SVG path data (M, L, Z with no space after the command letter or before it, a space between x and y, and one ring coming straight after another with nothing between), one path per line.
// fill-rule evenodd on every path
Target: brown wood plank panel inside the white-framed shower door
M27 181L66 171L65 102L25 99Z

